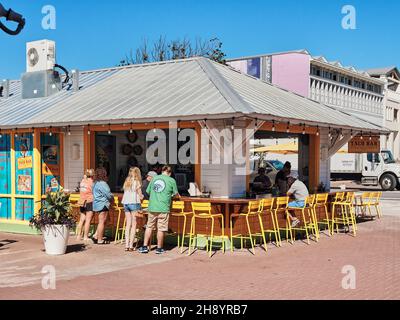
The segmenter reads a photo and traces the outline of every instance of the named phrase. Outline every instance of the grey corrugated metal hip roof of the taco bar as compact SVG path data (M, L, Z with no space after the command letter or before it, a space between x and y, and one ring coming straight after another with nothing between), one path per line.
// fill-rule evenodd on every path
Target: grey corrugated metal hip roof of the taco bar
M23 100L21 83L0 100L0 127L257 116L292 123L385 131L369 122L205 58L82 72L82 89Z

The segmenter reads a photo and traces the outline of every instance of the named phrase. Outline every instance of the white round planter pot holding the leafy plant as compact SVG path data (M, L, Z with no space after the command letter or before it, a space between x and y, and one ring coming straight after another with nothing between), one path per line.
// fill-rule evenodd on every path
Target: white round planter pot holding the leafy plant
M48 225L42 228L44 247L49 255L65 254L69 238L69 229L65 225Z

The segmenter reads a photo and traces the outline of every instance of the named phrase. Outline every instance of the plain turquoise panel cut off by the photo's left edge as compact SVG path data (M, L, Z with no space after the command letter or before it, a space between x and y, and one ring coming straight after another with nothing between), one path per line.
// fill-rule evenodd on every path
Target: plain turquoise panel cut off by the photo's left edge
M0 137L0 194L11 194L10 135ZM0 219L11 219L11 199L0 197Z

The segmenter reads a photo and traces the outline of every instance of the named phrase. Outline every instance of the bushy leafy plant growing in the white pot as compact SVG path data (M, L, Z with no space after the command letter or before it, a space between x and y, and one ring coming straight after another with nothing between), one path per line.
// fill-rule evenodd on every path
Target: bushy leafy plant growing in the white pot
M48 192L46 198L42 201L39 214L33 216L29 224L38 230L47 225L56 224L66 225L68 228L73 229L75 219L71 212L69 194L62 190Z

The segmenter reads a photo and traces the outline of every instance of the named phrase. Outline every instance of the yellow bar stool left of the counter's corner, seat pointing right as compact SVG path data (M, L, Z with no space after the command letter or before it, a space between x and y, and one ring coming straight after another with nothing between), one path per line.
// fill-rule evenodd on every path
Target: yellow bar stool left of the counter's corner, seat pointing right
M190 233L189 233L189 252L188 255L191 253L192 244L199 237L203 237L207 239L206 243L206 251L209 251L209 256L212 255L212 244L214 239L221 239L222 240L222 251L225 252L225 230L224 230L224 216L221 213L213 214L211 213L211 203L209 202L192 202L192 220L190 224ZM210 234L207 233L198 233L196 230L196 220L203 220L211 221L211 231ZM221 223L221 234L219 236L214 235L214 227L215 227L215 220L220 220ZM210 238L210 244L208 244L208 238ZM194 248L194 247L193 247Z

